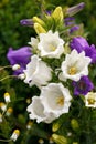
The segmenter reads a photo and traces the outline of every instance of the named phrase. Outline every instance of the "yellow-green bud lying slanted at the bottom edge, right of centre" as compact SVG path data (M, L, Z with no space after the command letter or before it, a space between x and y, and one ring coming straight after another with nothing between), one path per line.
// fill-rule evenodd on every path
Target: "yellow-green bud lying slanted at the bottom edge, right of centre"
M66 137L57 134L52 134L52 138L56 144L67 144Z

